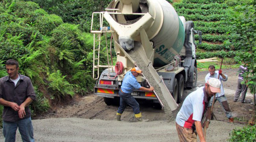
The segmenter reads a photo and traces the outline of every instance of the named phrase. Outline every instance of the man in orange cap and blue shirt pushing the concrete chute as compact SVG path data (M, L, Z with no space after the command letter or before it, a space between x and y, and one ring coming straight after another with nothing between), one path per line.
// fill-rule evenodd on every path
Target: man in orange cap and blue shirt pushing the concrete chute
M153 91L154 87L146 88L141 87L141 85L137 82L136 78L140 73L142 73L141 70L139 70L138 67L134 67L131 69L131 71L128 71L126 75L124 76L124 80L122 81L121 89L119 90L118 95L120 96L120 106L117 110L117 120L121 121L121 115L124 112L125 107L127 104L132 107L135 118L138 121L143 121L141 117L141 112L139 111L139 103L135 100L135 98L131 95L132 91L134 89L139 89L142 91ZM144 120L147 121L147 120Z

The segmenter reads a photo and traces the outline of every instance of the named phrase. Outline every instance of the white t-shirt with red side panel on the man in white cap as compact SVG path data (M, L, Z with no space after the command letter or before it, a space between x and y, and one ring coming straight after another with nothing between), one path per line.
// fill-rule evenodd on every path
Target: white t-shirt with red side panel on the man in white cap
M204 87L190 93L177 114L176 122L182 127L192 129L195 121L201 121L205 108ZM206 100L207 101L207 100Z

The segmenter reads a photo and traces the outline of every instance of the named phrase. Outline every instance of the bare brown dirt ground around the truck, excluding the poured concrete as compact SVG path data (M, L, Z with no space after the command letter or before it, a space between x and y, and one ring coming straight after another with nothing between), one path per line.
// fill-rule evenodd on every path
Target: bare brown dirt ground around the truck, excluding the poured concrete
M237 71L238 69L223 69L223 73L228 75L228 80L226 82L223 82L223 87L225 95L228 98L228 104L230 105L230 109L232 111L232 115L234 116L235 123L245 124L252 117L253 114L253 106L250 105L250 101L253 100L253 96L249 93L249 91L247 91L247 103L242 104L239 101L233 102L233 97L237 87ZM208 71L198 72L198 87L205 84L204 77L207 73ZM188 95L192 91L193 89L185 90L184 96ZM181 106L181 104L179 106ZM38 115L34 117L34 119L76 117L101 120L115 120L117 108L118 106L107 106L104 103L102 97L98 97L93 94L83 97L75 96L69 105L53 107L48 113ZM140 109L143 118L145 119L149 119L150 121L166 120L164 111L154 108L153 105L148 102L140 102ZM219 102L216 102L216 104L214 105L213 112L217 120L228 122L224 110L220 106ZM131 107L126 107L126 110L122 115L122 120L127 122L135 121Z

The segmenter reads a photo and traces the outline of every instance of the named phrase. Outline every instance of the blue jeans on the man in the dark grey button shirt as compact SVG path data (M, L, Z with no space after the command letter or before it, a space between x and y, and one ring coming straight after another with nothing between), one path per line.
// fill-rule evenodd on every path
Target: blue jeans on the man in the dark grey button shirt
M15 142L16 130L18 127L23 142L35 142L33 138L31 117L17 120L15 122L3 121L5 142Z

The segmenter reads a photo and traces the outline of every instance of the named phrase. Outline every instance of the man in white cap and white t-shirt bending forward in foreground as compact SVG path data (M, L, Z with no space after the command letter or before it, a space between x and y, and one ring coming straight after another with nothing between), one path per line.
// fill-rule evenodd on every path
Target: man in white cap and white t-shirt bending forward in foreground
M176 117L176 129L180 142L197 142L197 134L200 142L206 142L202 127L208 128L210 123L210 112L208 102L216 93L221 92L221 81L210 78L205 86L198 88L190 93L184 100L180 111ZM206 121L201 124L203 116Z

